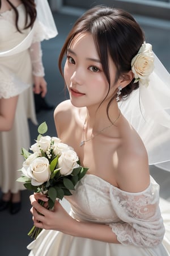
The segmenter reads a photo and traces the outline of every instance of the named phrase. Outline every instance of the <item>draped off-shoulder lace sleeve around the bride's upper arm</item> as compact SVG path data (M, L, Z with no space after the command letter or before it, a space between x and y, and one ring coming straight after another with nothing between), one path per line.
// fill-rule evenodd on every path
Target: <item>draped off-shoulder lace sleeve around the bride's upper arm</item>
M152 247L162 242L165 230L159 209L159 185L152 177L143 192L129 193L111 187L110 196L122 222L109 226L120 243Z

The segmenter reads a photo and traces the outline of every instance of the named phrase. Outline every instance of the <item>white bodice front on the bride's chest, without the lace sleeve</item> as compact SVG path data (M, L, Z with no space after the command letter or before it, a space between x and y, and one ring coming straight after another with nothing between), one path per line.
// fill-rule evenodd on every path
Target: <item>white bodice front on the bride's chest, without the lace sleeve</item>
M71 214L78 220L101 223L120 221L114 212L111 199L111 184L95 175L86 175L79 181L73 196L67 196Z

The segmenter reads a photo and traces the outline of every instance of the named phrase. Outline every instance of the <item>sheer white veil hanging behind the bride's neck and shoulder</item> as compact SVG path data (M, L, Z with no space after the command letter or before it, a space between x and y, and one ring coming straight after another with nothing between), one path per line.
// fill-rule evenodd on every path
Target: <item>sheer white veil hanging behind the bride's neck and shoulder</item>
M142 85L121 101L122 114L141 136L149 164L170 171L170 75L154 55L154 72L149 85Z

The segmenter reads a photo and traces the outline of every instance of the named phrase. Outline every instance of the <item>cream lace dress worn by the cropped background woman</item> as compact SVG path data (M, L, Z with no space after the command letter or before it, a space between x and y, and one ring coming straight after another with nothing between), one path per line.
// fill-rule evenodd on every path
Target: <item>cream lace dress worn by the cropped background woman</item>
M8 56L1 55L2 52L19 46L30 32L30 28L23 30L25 24L24 5L21 4L17 8L19 28L22 33L16 30L13 9L0 15L0 98L19 95L12 130L0 132L0 188L4 193L9 189L12 193L24 189L23 184L17 182L16 179L20 176L17 170L22 167L24 160L20 155L21 148L28 149L30 146L27 119L31 118L33 123L37 123L32 75L44 76L39 36L37 36L36 30L29 48L25 47L26 49L23 51Z

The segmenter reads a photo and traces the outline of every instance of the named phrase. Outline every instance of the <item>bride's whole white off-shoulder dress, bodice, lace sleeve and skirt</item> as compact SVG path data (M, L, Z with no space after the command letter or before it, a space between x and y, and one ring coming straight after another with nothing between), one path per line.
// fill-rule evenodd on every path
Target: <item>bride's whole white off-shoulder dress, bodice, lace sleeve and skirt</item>
M140 193L128 193L95 175L85 175L67 196L78 221L109 225L119 244L42 230L28 245L29 256L168 256L159 210L159 185L152 179Z

